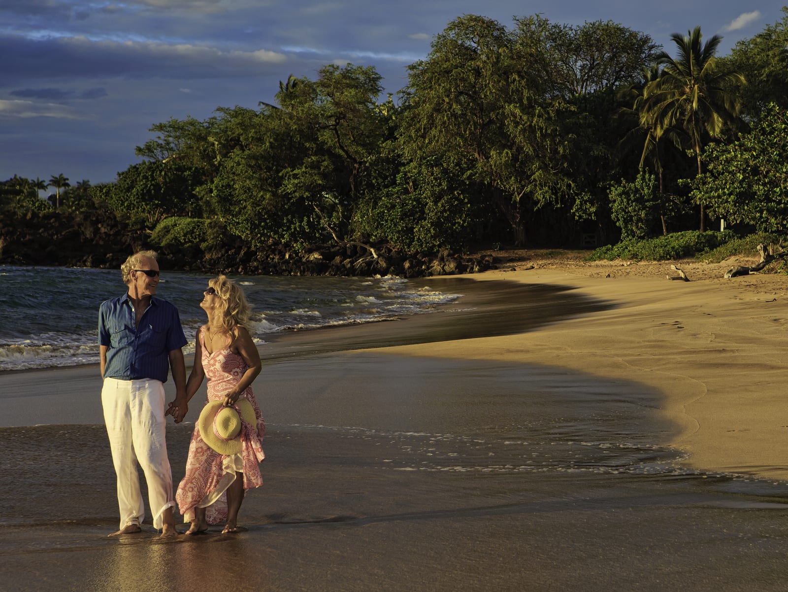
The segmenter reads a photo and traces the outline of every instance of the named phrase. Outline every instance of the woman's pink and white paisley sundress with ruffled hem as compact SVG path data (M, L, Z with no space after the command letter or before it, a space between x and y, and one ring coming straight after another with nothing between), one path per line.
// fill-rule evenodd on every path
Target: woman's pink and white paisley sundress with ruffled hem
M206 326L200 327L199 341L203 346L203 370L208 378L208 400L222 400L238 384L247 364L243 357L233 353L229 347L217 349L209 354L205 348ZM229 345L229 344L228 344ZM241 452L223 455L211 449L200 436L195 424L191 434L189 456L186 460L186 475L178 486L175 499L184 522L195 519L195 508L206 508L206 520L217 524L227 519L227 488L243 473L243 489L251 490L262 485L259 462L265 458L260 444L266 432L262 413L252 393L251 386L241 393L255 408L257 426L242 431Z

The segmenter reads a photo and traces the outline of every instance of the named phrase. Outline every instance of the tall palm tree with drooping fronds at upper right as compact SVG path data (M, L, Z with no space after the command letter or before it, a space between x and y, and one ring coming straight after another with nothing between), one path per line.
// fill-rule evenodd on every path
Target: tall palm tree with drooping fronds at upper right
M716 50L722 37L714 35L702 43L701 28L689 35L671 35L677 58L666 52L657 56L660 76L645 90L641 121L652 121L658 135L670 128L682 128L697 158L701 174L701 151L706 136L717 138L725 126L738 116L738 97L730 92L745 84L738 72L721 73L716 68ZM704 231L704 205L701 203L701 232Z

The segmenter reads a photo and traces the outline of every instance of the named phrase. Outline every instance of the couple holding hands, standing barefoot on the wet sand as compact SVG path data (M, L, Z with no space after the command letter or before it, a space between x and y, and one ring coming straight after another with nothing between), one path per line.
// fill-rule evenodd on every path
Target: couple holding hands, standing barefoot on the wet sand
M102 407L117 475L120 529L110 536L142 531L145 505L137 464L147 480L153 525L163 537L177 536L177 505L186 534L225 522L237 532L244 490L262 485L259 462L265 423L251 383L260 373L257 348L246 328L250 307L241 289L224 276L208 282L200 307L208 322L195 336L188 380L187 344L177 308L156 296L159 268L154 251L140 251L121 266L128 291L99 309ZM175 400L166 405L169 372ZM188 403L208 378L208 397L191 434L186 474L173 496L165 444L166 415L183 421Z

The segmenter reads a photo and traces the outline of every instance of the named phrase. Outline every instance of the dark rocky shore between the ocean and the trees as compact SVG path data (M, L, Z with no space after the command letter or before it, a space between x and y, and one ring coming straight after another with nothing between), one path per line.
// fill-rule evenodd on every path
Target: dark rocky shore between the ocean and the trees
M207 247L154 244L141 223L123 222L106 211L0 218L0 265L111 269L145 248L158 251L169 269L209 274L426 277L496 268L489 254L406 253L388 244L313 244L298 251L275 243L250 248L236 237Z

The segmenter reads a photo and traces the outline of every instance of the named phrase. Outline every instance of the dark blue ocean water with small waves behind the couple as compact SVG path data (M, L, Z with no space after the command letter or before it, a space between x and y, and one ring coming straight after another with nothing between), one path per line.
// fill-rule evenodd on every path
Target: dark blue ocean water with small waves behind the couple
M199 307L210 274L164 271L157 295L178 307L194 351ZM251 303L258 344L288 330L376 322L434 311L459 294L415 287L400 277L229 276ZM99 361L97 318L103 300L125 292L119 270L0 266L0 371Z

